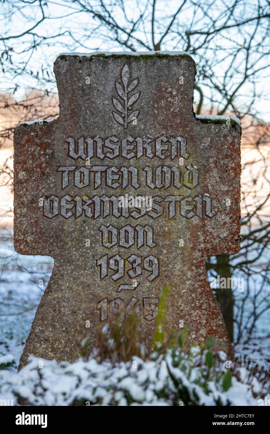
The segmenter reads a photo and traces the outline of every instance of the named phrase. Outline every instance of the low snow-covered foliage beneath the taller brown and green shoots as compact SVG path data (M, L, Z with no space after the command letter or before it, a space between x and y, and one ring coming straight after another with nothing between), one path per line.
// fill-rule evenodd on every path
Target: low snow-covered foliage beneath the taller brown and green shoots
M0 370L0 399L37 406L257 405L266 386L245 367L226 368L226 354L210 345L117 363L98 362L96 355L73 364L30 358L18 374Z

